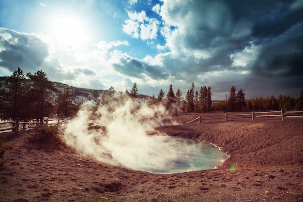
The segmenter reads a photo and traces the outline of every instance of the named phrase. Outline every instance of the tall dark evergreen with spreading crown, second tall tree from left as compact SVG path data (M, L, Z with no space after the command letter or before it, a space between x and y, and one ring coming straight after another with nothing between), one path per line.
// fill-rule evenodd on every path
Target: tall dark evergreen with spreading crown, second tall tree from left
M52 107L48 90L57 91L57 89L53 83L48 80L43 70L35 72L34 75L29 72L26 76L33 81L31 94L32 98L34 98L33 102L38 106L39 113L37 114L37 118L42 122L43 117L50 114L50 108Z

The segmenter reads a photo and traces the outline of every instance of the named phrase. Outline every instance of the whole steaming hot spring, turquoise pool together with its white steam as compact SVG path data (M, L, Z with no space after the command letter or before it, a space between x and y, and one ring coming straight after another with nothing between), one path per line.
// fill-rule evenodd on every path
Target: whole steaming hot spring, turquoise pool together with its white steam
M163 105L112 94L107 101L84 103L66 125L64 139L98 161L154 173L213 169L228 157L212 144L154 129L177 124L167 120L172 119Z

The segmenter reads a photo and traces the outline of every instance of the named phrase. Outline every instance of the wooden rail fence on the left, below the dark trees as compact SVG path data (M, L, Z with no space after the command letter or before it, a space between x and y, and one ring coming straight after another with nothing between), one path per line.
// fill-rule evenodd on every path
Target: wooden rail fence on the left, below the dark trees
M53 122L57 122L57 123L53 123ZM63 124L63 123L66 123L66 119L48 119L48 118L46 118L42 122L37 122L35 120L33 120L31 122L21 122L20 119L16 119L15 121L0 123L0 125L2 125L2 124L8 124L8 125L11 124L12 125L12 127L0 128L0 132L7 131L7 130L13 130L13 131L15 131L15 135L16 135L19 130L30 129L30 127L37 125L37 124L43 124L43 125L47 126L47 125L55 125L55 124ZM22 127L20 127L21 125L22 125Z

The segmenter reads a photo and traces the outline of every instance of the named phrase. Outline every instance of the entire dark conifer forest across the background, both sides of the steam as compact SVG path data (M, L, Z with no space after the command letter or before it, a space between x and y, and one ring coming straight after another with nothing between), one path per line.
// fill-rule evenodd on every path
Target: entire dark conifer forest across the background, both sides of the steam
M14 73L7 77L5 83L0 86L0 118L21 120L37 119L43 120L45 116L66 118L75 116L81 103L76 102L75 91L68 85L59 90L54 82L50 81L43 70L34 74L27 73L18 67ZM105 91L106 95L115 92L114 87ZM176 93L170 84L168 93L161 89L157 96L147 96L138 93L136 83L131 92L126 90L125 94L132 99L146 100L148 105L163 104L171 114L180 112L210 112L210 111L260 111L260 110L303 110L303 90L298 98L289 95L281 95L276 98L256 97L245 99L242 89L238 92L235 86L230 88L225 100L212 101L211 87L201 86L199 91L195 91L195 84L192 82L191 88L185 97L180 89ZM108 97L108 96L107 96ZM110 99L110 97L109 97Z

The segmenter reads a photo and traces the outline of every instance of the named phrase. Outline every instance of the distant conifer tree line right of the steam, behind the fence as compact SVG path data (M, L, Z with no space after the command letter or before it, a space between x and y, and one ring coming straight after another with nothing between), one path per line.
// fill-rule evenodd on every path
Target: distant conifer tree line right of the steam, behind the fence
M126 94L131 97L138 97L138 88L136 83L131 90L131 93ZM298 98L289 95L281 95L275 98L274 95L270 97L257 97L245 99L245 93L242 89L237 91L235 86L229 90L226 99L222 101L212 101L211 87L201 86L199 91L195 91L195 84L192 82L191 88L187 91L186 96L183 97L180 89L176 94L173 91L172 84L165 92L161 89L157 97L152 95L149 98L149 104L162 103L167 110L174 112L209 112L209 111L258 111L258 110L303 110L303 89ZM177 108L177 109L176 109Z

